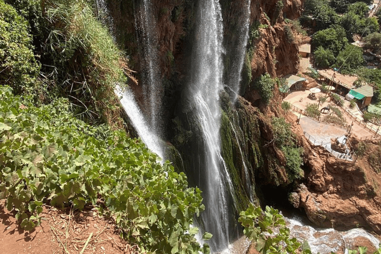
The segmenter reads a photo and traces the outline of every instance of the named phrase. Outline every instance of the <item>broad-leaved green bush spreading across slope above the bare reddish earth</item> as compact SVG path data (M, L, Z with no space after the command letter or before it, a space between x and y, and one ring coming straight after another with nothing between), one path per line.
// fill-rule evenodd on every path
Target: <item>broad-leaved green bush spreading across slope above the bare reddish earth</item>
M82 209L101 198L107 208L100 211L143 252L201 251L190 228L204 209L201 191L188 188L168 162L160 165L140 140L89 127L63 99L38 108L5 86L0 101L0 198L21 227L39 224L43 203Z

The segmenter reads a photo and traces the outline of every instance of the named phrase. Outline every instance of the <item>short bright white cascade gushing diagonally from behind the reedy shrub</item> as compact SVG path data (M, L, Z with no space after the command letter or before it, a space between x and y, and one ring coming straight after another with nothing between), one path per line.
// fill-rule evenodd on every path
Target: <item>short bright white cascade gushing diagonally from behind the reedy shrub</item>
M120 86L117 86L115 93L119 96L121 104L140 138L152 152L156 153L160 158L164 159L165 154L162 148L161 140L158 136L156 136L154 132L148 128L144 116L137 106L131 91L128 89L123 90Z

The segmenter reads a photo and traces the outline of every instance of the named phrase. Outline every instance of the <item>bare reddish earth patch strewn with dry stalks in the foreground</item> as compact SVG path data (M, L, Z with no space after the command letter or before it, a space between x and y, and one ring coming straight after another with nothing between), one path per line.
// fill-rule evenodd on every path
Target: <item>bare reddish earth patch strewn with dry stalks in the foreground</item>
M22 230L0 201L0 253L7 254L135 254L115 231L112 220L95 212L61 211L44 206L42 223L33 232ZM86 245L86 241L91 238Z

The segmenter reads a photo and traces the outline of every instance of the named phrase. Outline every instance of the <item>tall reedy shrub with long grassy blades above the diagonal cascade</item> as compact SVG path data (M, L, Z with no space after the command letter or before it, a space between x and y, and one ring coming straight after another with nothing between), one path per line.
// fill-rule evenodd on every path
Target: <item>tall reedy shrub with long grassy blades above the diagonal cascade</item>
M121 126L114 86L129 75L121 51L86 0L46 4L51 33L44 57L55 66L58 93L70 98L82 119Z

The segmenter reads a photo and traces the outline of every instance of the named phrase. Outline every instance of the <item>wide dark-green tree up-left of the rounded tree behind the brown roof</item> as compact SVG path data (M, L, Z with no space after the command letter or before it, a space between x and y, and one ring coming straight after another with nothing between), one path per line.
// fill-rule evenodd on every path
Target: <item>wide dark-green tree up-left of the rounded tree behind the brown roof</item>
M321 46L325 50L331 50L333 55L337 56L348 44L348 39L344 28L335 25L316 32L313 35L312 44L315 48Z

